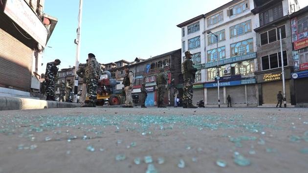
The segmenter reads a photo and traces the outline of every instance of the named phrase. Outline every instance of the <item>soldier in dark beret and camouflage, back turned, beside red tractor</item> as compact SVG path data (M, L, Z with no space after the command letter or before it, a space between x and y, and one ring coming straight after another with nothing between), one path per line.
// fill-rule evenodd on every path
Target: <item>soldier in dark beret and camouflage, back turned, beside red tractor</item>
M96 107L98 80L101 75L101 67L95 59L95 55L88 54L88 63L86 65L87 91L89 103L83 107Z

